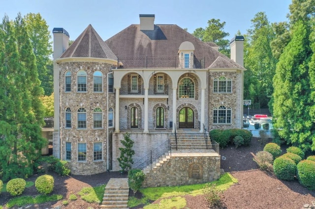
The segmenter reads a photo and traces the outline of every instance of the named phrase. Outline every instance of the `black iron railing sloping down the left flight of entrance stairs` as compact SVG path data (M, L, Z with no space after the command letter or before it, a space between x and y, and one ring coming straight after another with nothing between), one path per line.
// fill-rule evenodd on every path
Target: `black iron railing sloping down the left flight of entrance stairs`
M151 150L150 153L140 158L132 164L132 168L143 170L146 173L149 170L152 170L152 166L158 163L158 159L168 153L169 151L169 140L165 141L159 145L154 150Z

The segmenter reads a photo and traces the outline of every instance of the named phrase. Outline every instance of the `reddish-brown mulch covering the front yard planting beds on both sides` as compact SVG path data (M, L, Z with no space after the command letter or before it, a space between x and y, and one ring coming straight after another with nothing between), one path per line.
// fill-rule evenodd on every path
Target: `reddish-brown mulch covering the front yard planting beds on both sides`
M229 146L220 149L221 168L225 172L230 172L238 183L228 188L221 196L222 208L226 209L301 209L304 204L311 204L315 201L315 191L310 191L301 186L298 181L286 182L278 180L272 173L259 170L256 162L252 160L251 152L256 154L262 151L270 139L261 141L259 138L252 138L251 146L239 147L235 149ZM283 147L285 152L286 146ZM110 178L126 178L119 172L106 172L92 176L69 176L62 177L50 173L55 178L55 188L53 194L62 194L66 199L70 194L76 194L83 187L97 186L107 183ZM35 181L38 176L33 176L28 181ZM37 195L34 186L27 188L25 195ZM132 193L130 193L132 194ZM137 193L137 196L141 194ZM46 209L61 206L67 209L87 209L99 208L97 204L90 204L80 199L69 201L63 206L61 201L47 204L32 205L29 209ZM0 194L0 205L5 205L11 196L7 192ZM185 196L187 208L189 209L208 209L207 203L202 195L192 197ZM15 207L16 209L18 207ZM141 208L141 206L135 207Z

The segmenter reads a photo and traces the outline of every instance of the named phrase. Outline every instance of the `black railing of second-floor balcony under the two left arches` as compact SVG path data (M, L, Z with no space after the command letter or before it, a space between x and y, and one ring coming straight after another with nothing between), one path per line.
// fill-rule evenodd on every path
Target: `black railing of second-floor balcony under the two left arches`
M120 89L121 95L144 95L143 84L138 85L137 88L132 89L131 85L122 85ZM168 95L168 85L157 87L156 85L149 85L149 95Z

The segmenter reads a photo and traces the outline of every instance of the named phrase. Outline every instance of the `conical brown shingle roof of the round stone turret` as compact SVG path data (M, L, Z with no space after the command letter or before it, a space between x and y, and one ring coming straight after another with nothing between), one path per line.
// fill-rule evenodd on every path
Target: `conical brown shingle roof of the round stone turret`
M117 60L117 56L110 50L91 25L63 52L60 58L65 57L93 57Z

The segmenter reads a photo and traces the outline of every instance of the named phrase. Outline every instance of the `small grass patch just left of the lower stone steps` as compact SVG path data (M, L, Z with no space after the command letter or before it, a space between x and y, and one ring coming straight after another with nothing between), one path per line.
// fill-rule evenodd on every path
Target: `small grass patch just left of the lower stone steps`
M82 200L88 203L100 204L103 200L105 186L106 184L96 187L84 187L78 194L81 196Z

